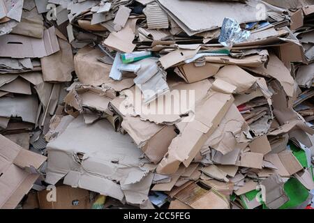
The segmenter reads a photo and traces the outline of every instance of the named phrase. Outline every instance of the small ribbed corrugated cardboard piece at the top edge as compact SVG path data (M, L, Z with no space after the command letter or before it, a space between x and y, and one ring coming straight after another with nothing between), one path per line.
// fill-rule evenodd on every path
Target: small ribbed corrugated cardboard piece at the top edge
M158 3L149 3L146 14L149 29L167 29L169 27L168 15Z

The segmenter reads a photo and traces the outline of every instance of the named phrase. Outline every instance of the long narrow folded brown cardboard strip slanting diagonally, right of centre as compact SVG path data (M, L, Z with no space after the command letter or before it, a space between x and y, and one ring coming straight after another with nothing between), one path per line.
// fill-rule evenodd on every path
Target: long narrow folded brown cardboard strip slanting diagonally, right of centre
M214 132L233 100L232 95L211 91L196 107L194 121L189 122L183 132L172 140L167 155L158 164L157 172L172 174L181 162L187 167ZM209 107L213 111L210 117L204 115Z

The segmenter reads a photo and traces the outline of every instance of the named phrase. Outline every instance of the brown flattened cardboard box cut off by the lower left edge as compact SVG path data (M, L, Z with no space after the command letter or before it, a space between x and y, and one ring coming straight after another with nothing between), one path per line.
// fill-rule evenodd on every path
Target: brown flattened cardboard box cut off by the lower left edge
M46 159L0 134L0 208L13 209L20 203L39 176L26 168L38 169Z

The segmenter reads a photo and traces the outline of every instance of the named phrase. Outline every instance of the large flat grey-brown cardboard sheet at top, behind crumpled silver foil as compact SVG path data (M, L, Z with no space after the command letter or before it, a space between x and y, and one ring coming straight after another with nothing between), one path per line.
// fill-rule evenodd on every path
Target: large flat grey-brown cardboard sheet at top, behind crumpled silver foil
M158 3L188 36L220 27L230 12L239 23L256 21L257 9L252 4L179 0L158 0Z

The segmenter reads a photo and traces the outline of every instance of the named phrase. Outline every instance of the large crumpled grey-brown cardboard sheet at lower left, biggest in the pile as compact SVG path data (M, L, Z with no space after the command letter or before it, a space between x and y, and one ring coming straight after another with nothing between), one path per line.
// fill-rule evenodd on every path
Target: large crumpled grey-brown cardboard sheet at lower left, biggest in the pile
M69 145L68 140L77 143ZM140 159L142 152L128 135L114 132L106 120L86 125L79 116L47 149L47 183L54 184L65 177L63 183L67 185L119 200L126 197L126 201L134 204L142 203L147 197L153 178L142 167L145 162Z

